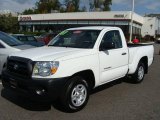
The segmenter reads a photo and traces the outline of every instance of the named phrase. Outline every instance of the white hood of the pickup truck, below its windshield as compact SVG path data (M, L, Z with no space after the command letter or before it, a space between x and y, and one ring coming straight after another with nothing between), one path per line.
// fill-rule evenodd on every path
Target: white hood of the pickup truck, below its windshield
M78 49L78 48L65 48L65 47L40 47L28 50L23 50L12 54L11 56L18 56L23 58L29 58L33 61L53 61L63 58L71 59L80 56L89 55L92 49Z

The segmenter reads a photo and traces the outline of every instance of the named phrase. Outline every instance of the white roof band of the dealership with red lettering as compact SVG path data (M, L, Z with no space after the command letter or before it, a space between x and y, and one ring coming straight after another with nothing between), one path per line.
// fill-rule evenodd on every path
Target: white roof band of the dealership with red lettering
M130 20L131 11L105 11L105 12L70 12L20 15L19 21L45 21L45 20ZM134 13L134 21L143 23L143 17Z

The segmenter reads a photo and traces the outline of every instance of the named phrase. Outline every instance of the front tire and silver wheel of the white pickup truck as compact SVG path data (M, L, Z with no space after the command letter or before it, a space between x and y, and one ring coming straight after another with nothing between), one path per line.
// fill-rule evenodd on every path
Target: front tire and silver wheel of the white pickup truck
M89 87L86 80L77 76L67 83L61 95L61 102L67 112L83 109L89 99Z

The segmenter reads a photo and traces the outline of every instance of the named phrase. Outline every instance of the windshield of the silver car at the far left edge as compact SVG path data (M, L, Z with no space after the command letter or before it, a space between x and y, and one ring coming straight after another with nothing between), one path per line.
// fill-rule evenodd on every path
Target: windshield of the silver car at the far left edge
M0 39L10 46L22 45L22 42L4 32L0 32Z

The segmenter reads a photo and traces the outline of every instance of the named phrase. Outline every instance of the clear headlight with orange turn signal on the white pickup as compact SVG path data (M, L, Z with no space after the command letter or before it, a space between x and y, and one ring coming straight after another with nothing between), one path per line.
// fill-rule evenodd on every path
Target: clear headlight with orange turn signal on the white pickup
M50 76L56 73L59 67L58 61L53 62L36 62L33 68L33 76Z

